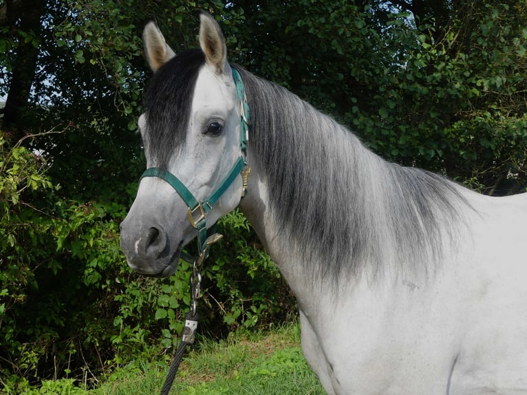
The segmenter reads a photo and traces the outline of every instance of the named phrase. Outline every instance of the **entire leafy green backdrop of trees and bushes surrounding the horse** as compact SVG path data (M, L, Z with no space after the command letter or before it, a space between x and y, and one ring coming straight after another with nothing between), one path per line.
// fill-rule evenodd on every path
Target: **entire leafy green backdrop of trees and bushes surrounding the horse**
M118 224L144 169L134 133L150 77L142 27L155 18L176 51L195 47L198 9L222 24L230 61L332 114L381 156L484 193L525 190L524 1L0 0L6 392L54 376L96 380L177 341L188 265L170 279L134 275ZM244 217L220 227L203 328L221 336L288 317L292 297Z

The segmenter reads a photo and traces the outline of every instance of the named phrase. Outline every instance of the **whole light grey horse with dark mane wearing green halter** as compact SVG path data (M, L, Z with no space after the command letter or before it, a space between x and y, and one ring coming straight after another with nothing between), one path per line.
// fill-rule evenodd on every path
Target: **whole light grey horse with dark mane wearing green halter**
M133 270L171 275L239 206L298 301L327 394L527 394L526 195L383 160L228 63L209 14L199 48L175 54L153 22L143 39L147 173L120 232Z

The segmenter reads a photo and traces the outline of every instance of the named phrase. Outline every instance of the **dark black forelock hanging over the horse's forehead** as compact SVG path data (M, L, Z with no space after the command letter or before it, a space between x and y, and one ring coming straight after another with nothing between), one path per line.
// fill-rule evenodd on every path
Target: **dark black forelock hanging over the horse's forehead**
M166 168L183 144L189 125L197 75L205 63L202 50L180 52L155 72L144 97L147 134L144 149L153 166Z

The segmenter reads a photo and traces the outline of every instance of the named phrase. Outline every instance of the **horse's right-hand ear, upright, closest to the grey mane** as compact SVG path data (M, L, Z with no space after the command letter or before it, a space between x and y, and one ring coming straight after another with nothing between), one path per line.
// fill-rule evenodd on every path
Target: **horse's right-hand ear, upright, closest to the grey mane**
M217 74L228 74L227 47L222 29L206 12L200 12L200 22L200 47L205 54L206 63Z

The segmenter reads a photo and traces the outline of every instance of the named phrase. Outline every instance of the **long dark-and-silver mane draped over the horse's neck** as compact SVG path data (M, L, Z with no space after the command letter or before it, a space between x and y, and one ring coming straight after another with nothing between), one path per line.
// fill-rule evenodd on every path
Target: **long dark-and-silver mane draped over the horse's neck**
M386 162L287 89L235 67L250 105L250 142L268 177L283 237L313 276L433 273L468 205L440 175Z

